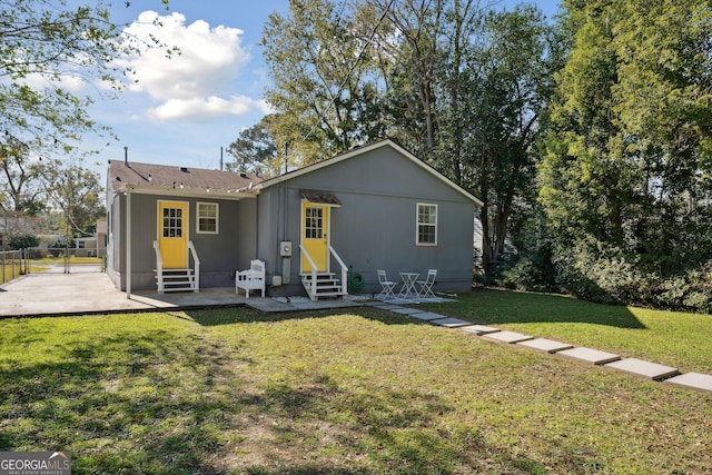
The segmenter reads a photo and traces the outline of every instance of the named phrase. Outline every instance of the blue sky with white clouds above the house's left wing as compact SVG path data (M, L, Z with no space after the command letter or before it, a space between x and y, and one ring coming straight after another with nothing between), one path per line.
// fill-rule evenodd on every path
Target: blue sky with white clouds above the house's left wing
M134 0L126 8L117 1L113 20L147 32L154 11L164 17L158 34L178 44L182 55L165 60L161 53L125 60L137 71L138 83L118 99L98 101L92 118L112 128L119 141L87 137L86 148L101 149L98 165L129 160L217 169L220 147L234 141L269 111L264 101L267 71L258 46L269 13L288 11L288 0ZM502 1L497 8L520 3ZM533 1L547 17L557 0ZM142 24L141 24L142 23ZM229 160L225 154L225 160ZM92 167L93 168L93 167Z

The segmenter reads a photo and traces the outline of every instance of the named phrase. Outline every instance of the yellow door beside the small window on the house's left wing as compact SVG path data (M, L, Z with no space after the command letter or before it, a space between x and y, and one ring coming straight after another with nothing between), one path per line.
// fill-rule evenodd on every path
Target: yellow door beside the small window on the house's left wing
M188 267L188 204L158 202L158 248L166 269Z

